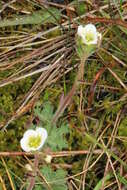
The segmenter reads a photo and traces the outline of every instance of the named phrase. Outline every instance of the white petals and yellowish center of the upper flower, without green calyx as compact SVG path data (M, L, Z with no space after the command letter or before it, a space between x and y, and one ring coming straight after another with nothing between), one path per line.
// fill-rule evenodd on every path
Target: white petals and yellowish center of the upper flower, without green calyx
M80 25L77 33L86 45L97 44L98 40L101 40L101 33L97 32L93 24Z

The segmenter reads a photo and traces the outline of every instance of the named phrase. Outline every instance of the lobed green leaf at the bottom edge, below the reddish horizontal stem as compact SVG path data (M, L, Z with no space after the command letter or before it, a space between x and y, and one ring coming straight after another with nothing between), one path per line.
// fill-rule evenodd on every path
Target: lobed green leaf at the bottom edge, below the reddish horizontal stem
M67 173L63 169L53 171L50 166L44 166L41 169L41 173L51 186L52 190L67 190L65 180ZM45 187L43 188L46 190Z

